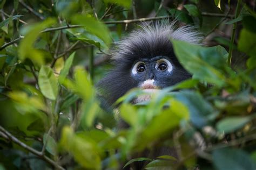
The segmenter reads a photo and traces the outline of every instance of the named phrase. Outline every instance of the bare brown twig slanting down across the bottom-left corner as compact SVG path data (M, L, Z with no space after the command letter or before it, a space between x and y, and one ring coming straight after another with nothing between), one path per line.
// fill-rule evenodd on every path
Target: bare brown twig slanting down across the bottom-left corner
M48 162L49 164L51 164L53 167L57 168L57 169L63 169L64 168L62 166L59 166L57 164L57 162L53 161L52 159L50 159L49 157L46 157L45 155L43 155L41 152L35 150L34 148L26 145L25 143L23 143L22 141L18 140L15 136L13 136L10 132L6 131L2 126L0 126L0 131L2 133L0 133L0 136L2 136L5 139L11 140L14 143L16 143L17 145L23 147L25 150L28 150L29 152L37 155L37 157L45 160L46 162ZM5 134L5 135L3 135Z

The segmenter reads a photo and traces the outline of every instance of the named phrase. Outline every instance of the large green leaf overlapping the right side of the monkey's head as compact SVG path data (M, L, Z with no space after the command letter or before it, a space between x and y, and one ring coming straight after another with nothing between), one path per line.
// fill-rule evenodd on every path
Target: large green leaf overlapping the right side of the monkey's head
M198 80L205 80L216 86L224 86L227 67L225 48L220 46L201 47L187 42L172 40L174 52L181 65Z

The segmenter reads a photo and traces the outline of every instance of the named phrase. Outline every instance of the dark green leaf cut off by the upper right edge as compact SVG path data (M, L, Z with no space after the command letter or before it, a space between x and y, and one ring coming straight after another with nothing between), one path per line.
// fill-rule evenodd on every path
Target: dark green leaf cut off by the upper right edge
M256 57L256 33L242 29L238 41L238 49L251 57Z

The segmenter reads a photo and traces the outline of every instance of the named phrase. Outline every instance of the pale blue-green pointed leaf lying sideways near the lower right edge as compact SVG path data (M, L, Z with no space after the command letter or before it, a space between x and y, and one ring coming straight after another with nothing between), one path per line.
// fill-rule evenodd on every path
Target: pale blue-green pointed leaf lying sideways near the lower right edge
M217 123L217 130L221 133L231 133L241 129L246 123L251 121L251 117L226 117Z

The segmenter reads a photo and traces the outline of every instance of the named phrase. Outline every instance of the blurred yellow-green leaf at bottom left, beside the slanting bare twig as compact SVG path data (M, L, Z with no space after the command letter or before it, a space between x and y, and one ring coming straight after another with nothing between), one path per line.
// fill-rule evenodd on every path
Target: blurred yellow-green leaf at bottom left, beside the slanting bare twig
M87 169L100 169L100 150L95 141L75 134L68 126L62 130L60 146L70 152L75 160Z

